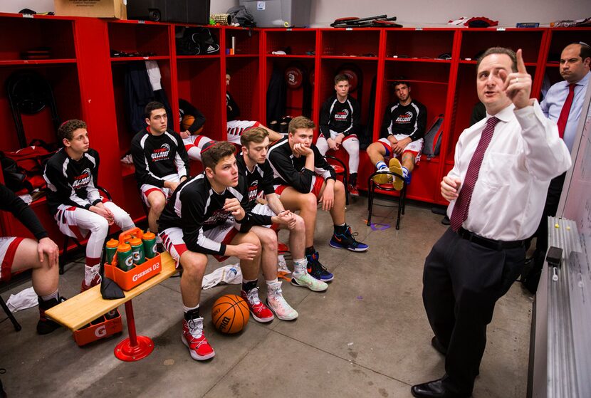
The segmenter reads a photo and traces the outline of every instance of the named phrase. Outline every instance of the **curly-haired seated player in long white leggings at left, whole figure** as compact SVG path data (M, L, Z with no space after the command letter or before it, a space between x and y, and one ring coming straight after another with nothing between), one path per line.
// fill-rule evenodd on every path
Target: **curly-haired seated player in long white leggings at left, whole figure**
M125 231L134 228L125 210L100 196L97 186L98 152L89 147L86 123L68 120L58 128L63 148L46 164L47 204L62 234L86 243L86 266L81 290L100 283L100 254L109 232L117 224ZM90 235L90 236L89 236Z

